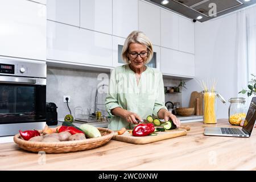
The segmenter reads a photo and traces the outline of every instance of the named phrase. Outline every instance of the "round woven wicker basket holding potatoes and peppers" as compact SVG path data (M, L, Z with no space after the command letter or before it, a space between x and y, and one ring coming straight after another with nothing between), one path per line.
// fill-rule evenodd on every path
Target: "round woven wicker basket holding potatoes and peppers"
M66 153L90 150L92 148L100 147L109 142L114 136L114 131L98 127L101 132L101 137L88 138L84 140L75 140L67 142L30 142L20 138L20 134L14 136L14 142L20 148L31 152L44 151L46 153Z

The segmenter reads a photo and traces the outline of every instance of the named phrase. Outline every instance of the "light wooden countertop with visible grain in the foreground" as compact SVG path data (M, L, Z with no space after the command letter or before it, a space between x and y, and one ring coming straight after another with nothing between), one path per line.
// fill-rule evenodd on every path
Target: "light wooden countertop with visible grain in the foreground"
M256 170L255 131L250 138L210 137L204 127L231 126L228 119L186 125L191 130L183 137L141 145L110 140L67 154L39 155L15 143L0 144L0 170Z

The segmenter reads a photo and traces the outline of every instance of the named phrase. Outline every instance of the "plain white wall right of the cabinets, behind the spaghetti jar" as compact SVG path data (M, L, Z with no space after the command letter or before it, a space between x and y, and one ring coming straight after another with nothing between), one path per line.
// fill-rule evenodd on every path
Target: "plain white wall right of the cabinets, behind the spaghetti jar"
M196 22L195 27L195 64L196 80L217 80L216 91L228 102L237 97L236 87L236 26L237 15ZM201 92L201 86L194 80L187 81L183 91L182 105L189 105L191 92ZM228 118L229 102L224 105L217 99L217 118Z

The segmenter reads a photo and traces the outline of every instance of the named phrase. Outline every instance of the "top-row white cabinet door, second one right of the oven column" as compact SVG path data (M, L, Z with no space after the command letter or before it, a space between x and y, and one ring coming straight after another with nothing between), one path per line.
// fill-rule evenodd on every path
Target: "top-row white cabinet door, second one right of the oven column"
M112 0L80 0L80 27L112 34Z

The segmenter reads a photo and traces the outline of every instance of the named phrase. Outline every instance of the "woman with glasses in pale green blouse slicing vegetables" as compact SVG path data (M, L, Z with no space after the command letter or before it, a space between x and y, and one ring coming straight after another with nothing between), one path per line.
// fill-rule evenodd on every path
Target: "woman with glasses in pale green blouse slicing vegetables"
M177 127L179 119L164 106L163 76L158 70L147 67L153 56L152 43L141 31L133 31L122 49L125 65L114 68L105 100L106 110L113 116L109 129L129 129L148 115L155 115Z

